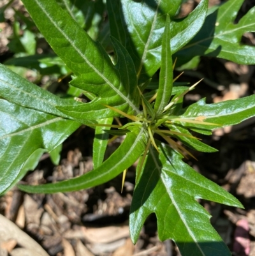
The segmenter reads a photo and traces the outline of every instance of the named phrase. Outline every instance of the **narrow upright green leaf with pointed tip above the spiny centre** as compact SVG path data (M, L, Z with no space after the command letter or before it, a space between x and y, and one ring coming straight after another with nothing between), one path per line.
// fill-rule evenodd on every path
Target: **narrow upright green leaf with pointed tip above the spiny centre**
M171 91L173 87L173 64L171 61L170 33L170 18L169 16L167 16L162 40L159 89L157 90L157 98L154 105L154 110L159 114L163 112L164 107L166 107L166 105L170 101Z

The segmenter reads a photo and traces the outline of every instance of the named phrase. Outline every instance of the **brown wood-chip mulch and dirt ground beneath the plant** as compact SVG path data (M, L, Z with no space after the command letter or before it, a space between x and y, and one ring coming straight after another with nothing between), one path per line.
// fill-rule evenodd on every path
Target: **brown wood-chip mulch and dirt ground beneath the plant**
M2 0L3 5L8 1ZM219 0L210 1L210 6ZM185 16L198 1L188 0L180 15ZM14 1L14 8L22 8ZM238 17L242 17L254 1L245 1ZM9 10L10 9L10 10ZM12 32L13 10L6 11L0 22L0 62L12 56L8 38ZM255 45L254 33L244 35L245 43ZM189 70L179 81L191 84L204 77L201 86L187 94L189 105L207 97L207 103L234 100L254 94L255 67L222 59L201 57L196 70ZM180 72L176 72L178 75ZM30 77L31 80L31 77ZM33 80L33 79L32 79ZM198 161L187 160L195 170L237 197L244 209L200 200L212 215L212 225L230 247L233 255L255 256L255 118L242 124L215 130L203 142L219 150L217 153L192 152ZM24 181L41 184L61 181L92 169L94 131L80 127L63 144L61 162L54 166L49 154L43 154L34 172ZM121 139L108 146L112 153ZM150 215L140 238L133 245L129 238L128 216L135 186L135 168L130 168L121 193L122 176L106 184L72 193L33 195L13 188L0 197L0 255L50 256L171 256L180 255L171 241L159 241L156 216ZM27 236L28 235L28 236Z

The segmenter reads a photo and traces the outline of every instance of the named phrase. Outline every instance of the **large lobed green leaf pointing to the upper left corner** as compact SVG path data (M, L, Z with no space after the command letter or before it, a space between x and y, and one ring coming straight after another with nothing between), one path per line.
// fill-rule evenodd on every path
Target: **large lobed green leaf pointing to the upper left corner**
M35 0L33 3L30 0L24 0L23 3L52 49L70 70L77 77L83 75L82 79L86 79L85 83L87 82L86 87L96 89L97 86L97 91L102 89L104 92L105 98L98 98L91 103L83 104L82 107L80 105L79 107L59 107L59 109L80 119L102 119L113 116L114 112L106 109L102 104L119 107L126 112L140 112L134 90L136 83L129 84L128 88L126 84L129 80L123 84L124 80L119 73L121 70L123 77L128 76L131 79L133 77L130 75L132 66L127 60L128 53L124 47L121 48L116 41L114 42L118 58L125 57L127 61L127 63L119 61L119 65L114 66L101 45L95 43L54 0ZM72 85L75 86L74 83ZM89 91L89 88L84 91ZM133 94L129 94L130 92ZM88 111L88 114L82 113L83 117L81 112L84 111Z

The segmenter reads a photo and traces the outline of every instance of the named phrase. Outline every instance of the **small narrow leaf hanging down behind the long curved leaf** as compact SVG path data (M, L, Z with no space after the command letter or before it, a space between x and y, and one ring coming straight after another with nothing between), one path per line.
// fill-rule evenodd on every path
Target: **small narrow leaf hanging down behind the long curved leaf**
M99 124L112 124L113 118L106 118L98 120ZM103 163L105 157L105 150L109 138L109 133L105 130L110 130L110 127L96 126L95 137L93 142L93 166L94 169L98 168Z

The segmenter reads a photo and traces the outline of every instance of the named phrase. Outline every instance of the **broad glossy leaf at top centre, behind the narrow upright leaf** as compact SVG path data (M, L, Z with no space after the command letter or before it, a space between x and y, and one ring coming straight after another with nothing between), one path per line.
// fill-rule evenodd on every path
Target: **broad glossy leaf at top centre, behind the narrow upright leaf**
M138 77L147 80L161 64L161 43L166 14L171 18L179 9L175 1L107 1L112 35L128 49ZM207 0L202 0L186 18L171 22L171 50L177 52L198 33L207 14Z

